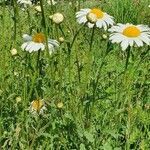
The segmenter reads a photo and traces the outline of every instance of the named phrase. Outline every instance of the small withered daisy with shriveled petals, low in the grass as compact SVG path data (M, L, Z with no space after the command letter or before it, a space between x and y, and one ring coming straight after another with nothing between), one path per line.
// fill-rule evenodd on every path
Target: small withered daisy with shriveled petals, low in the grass
M33 114L43 114L44 110L46 110L44 100L33 100L30 105L30 112Z

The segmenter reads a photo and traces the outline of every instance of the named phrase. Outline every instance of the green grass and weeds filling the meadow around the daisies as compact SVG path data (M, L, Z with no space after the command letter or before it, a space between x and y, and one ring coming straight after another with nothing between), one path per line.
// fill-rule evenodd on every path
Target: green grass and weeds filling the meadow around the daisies
M126 71L126 52L102 38L106 31L95 30L90 51L92 30L83 27L70 48L81 28L75 19L80 8L103 8L115 22L150 26L150 1L68 2L44 5L46 28L33 7L0 6L0 149L150 149L150 48L133 47ZM65 16L60 26L48 18L55 12ZM38 53L21 50L22 35L37 31L65 39L52 55L41 52L40 75ZM29 111L37 98L45 100L43 115Z

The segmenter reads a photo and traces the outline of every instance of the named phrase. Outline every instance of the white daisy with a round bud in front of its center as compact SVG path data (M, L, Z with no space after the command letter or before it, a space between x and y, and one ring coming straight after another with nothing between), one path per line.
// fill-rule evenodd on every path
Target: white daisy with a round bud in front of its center
M113 17L98 8L81 9L76 13L76 18L79 24L87 23L89 28L96 26L107 30L108 26L114 24Z

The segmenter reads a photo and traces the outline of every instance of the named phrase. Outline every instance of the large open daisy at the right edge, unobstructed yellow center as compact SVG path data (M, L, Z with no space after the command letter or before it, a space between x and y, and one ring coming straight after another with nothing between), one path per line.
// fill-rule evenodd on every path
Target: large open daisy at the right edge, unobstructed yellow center
M145 25L133 24L117 24L111 27L109 40L112 43L121 43L122 50L126 50L128 46L136 44L141 47L146 43L150 44L150 28Z

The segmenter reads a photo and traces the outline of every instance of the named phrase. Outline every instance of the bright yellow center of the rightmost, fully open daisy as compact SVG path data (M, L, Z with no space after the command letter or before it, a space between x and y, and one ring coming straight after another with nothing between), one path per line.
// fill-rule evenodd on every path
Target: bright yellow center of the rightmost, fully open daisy
M123 30L123 35L127 37L138 37L141 31L136 26L129 26Z

